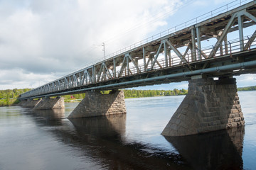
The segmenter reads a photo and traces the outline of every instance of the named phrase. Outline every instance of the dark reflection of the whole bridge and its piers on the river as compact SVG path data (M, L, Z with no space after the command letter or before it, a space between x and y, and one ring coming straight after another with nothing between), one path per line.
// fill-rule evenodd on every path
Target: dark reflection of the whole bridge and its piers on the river
M55 126L51 133L107 169L242 169L244 127L186 137L165 137L175 149L130 142L126 116L63 119L64 109L34 111L36 122ZM71 123L70 123L71 121ZM170 146L170 147L171 147ZM82 157L82 156L81 156Z

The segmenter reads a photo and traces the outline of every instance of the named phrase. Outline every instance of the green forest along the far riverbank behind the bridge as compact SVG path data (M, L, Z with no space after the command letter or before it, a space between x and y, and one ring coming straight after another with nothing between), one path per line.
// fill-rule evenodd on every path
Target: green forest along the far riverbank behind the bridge
M17 104L18 96L30 91L31 89L8 89L0 90L0 106L13 106ZM238 91L255 91L256 86L247 86L240 87ZM108 94L110 91L101 91L102 94ZM185 95L188 93L186 89L174 89L174 90L124 90L125 98L141 98L141 97L154 97L154 96L177 96ZM85 94L74 94L74 95L65 95L63 96L65 102L81 101L82 98L85 98Z

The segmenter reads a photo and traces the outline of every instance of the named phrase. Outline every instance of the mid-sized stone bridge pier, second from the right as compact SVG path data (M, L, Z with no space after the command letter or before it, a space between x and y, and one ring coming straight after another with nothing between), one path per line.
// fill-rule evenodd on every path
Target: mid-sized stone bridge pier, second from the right
M100 91L87 91L85 92L85 98L68 115L68 118L124 113L126 113L124 91L110 91L110 94L101 94Z

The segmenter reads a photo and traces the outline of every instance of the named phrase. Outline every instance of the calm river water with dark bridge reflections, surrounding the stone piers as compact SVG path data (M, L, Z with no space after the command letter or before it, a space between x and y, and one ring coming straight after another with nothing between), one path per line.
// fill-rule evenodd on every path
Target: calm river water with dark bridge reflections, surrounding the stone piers
M161 131L184 96L126 99L127 114L68 120L65 109L0 108L0 169L256 169L256 91L239 92L244 128Z

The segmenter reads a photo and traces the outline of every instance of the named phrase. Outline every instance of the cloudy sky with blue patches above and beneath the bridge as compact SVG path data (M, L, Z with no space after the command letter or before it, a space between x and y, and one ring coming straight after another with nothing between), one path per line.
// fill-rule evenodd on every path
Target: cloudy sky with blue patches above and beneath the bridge
M102 59L102 42L108 55L230 2L0 0L0 89L36 88ZM236 78L238 86L256 85L255 74Z

